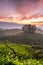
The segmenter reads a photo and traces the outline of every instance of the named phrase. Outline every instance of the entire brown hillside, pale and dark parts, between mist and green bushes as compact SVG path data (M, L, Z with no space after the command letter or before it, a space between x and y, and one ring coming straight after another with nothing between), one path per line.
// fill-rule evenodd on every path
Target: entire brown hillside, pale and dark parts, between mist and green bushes
M19 43L19 44L43 45L43 34L25 33L21 29L5 30L1 31L0 33L0 41L5 40L9 40L10 42L17 44Z

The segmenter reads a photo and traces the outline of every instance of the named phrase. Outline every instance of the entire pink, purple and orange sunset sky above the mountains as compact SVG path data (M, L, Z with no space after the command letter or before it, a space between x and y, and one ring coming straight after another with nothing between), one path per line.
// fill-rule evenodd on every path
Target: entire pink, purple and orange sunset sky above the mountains
M0 0L0 21L43 26L43 0Z

